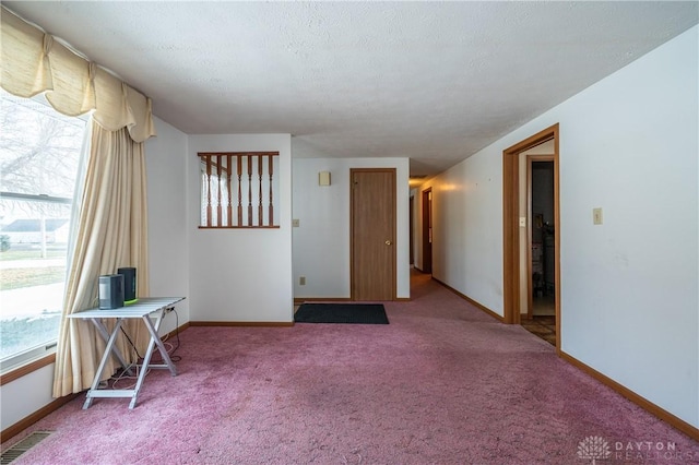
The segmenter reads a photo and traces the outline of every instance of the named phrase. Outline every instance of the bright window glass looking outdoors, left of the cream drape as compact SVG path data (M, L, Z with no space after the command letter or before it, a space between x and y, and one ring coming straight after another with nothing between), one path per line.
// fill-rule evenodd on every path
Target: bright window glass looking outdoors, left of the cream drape
M0 370L54 350L85 121L0 90Z

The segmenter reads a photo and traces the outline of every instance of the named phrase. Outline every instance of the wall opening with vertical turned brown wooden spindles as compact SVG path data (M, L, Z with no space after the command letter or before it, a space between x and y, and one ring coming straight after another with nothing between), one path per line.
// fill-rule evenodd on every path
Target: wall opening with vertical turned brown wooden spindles
M200 228L279 228L279 152L199 153Z

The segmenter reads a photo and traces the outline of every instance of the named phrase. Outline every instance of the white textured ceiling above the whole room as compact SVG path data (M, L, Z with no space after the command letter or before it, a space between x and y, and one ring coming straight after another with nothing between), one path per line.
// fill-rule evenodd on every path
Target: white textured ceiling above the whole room
M434 175L698 22L691 2L2 2L186 133Z

